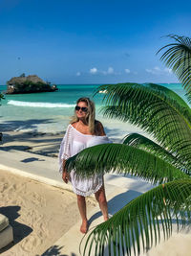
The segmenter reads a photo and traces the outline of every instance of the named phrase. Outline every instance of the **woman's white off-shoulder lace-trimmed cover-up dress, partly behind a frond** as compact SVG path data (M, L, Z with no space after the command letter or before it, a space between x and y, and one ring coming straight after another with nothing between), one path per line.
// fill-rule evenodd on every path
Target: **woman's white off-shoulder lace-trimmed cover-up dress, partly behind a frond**
M72 125L69 125L60 145L59 171L63 172L63 160L68 159L79 151L96 146L98 144L112 143L107 136L83 134ZM91 178L80 178L74 172L70 174L74 193L83 197L96 193L103 184L102 175L94 175Z

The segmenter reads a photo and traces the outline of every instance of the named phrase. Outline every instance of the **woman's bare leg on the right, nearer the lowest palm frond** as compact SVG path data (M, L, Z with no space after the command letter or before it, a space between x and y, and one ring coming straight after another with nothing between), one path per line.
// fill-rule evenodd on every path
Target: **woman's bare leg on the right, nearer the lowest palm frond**
M104 185L101 186L101 188L95 193L96 200L98 201L99 207L101 209L103 220L107 221L109 219L108 217L108 206L107 206L107 200L105 196L105 188Z

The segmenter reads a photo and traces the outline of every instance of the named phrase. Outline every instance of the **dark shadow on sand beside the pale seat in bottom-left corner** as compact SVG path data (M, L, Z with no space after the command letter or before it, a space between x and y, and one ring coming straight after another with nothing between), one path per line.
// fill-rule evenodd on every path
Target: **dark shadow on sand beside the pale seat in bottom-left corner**
M15 221L20 216L18 213L20 208L21 207L18 205L0 207L0 213L5 215L10 221L10 224L13 230L13 239L14 239L13 243L0 249L0 254L10 249L12 246L19 243L25 237L29 236L32 233L32 228L30 226Z

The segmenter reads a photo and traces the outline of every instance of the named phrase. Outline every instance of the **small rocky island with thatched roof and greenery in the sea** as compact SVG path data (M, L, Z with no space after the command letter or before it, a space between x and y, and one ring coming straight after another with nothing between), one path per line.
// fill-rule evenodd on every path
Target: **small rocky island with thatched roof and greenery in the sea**
M51 85L51 82L43 81L36 75L26 77L25 74L11 78L10 81L7 81L7 86L6 94L53 92L57 90L55 84Z

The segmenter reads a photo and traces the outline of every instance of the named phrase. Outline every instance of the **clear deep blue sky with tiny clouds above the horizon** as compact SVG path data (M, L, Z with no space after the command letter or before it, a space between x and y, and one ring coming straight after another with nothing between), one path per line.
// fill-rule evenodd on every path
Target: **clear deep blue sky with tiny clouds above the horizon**
M190 24L187 0L0 0L0 84L178 82L156 53Z

